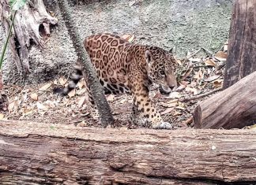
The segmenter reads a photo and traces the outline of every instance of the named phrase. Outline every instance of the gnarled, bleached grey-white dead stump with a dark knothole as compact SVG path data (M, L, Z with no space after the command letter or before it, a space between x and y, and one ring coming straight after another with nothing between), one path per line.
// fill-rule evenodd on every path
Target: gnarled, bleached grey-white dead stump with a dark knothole
M0 0L0 20L4 23L6 32L10 27L9 15L11 14L8 2L8 0ZM28 1L21 10L17 11L13 35L9 39L9 48L18 72L30 72L28 52L31 41L43 47L40 25L43 25L45 33L49 34L49 24L56 24L57 21L47 13L43 0Z

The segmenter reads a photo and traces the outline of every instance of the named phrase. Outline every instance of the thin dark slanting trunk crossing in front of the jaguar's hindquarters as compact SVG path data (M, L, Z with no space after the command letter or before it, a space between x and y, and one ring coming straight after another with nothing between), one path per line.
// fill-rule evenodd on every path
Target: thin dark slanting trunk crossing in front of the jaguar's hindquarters
M100 122L104 127L108 124L113 124L114 118L111 115L110 106L105 98L103 87L101 87L99 80L96 77L96 72L90 61L86 61L85 47L82 43L81 36L77 32L77 28L73 24L73 19L70 16L70 9L66 0L58 1L58 6L61 9L62 17L66 20L66 27L70 33L70 38L73 42L73 46L77 52L78 60L82 61L85 68L86 77L88 80L88 86L90 87L93 95L93 100L96 103L96 107L100 114Z

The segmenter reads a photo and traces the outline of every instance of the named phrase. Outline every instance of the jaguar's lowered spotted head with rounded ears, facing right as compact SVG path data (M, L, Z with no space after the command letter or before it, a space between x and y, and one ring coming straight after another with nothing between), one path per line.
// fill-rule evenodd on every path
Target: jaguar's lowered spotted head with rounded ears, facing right
M148 63L148 76L153 83L159 85L161 94L168 95L177 87L175 68L177 62L171 52L159 47L149 47L145 51L145 59Z

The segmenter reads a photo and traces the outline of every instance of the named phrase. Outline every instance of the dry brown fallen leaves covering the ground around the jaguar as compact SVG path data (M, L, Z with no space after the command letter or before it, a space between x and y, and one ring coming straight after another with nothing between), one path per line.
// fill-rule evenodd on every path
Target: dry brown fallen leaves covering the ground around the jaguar
M133 42L134 35L123 35L123 39ZM208 98L193 98L222 86L224 65L227 59L228 44L216 54L203 50L202 57L198 52L188 52L184 58L177 59L179 67L177 76L179 87L168 97L162 96L157 87L153 86L149 95L152 102L159 109L163 119L171 122L174 128L193 127L192 114L198 102ZM99 127L97 120L93 120L88 105L88 95L85 89L85 80L82 79L74 91L66 97L52 93L55 86L66 86L69 80L63 76L51 82L27 85L24 87L4 86L3 91L9 98L8 111L0 113L0 120L29 120L36 122L52 122L60 124L75 124L81 127ZM188 101L182 101L184 99ZM190 100L191 98L191 100ZM115 120L117 128L141 128L143 125L132 123L132 98L128 94L107 95L107 101ZM146 127L149 127L147 124Z

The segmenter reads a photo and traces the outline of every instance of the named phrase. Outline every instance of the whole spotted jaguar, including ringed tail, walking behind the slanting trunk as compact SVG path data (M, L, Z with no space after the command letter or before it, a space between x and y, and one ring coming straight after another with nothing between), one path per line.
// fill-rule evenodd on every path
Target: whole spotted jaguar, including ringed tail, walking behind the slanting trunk
M84 41L85 49L96 70L105 93L131 93L134 110L148 120L152 128L171 128L149 98L149 86L157 83L162 94L169 94L176 86L175 58L168 51L156 46L132 44L117 35L92 35ZM68 94L82 77L81 65L76 67L76 75L61 93ZM88 88L87 88L88 89ZM89 100L94 104L88 89Z

